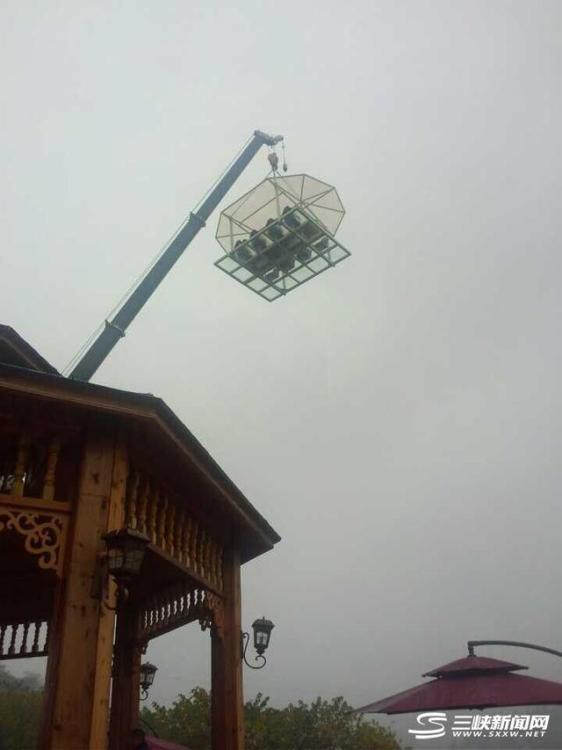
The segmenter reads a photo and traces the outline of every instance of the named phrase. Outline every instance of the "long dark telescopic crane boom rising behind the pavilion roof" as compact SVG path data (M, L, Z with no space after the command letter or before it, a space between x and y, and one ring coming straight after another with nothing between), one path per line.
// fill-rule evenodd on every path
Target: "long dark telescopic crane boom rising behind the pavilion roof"
M230 169L223 175L217 185L209 193L196 212L192 212L187 223L180 229L168 247L164 250L157 262L142 279L133 293L127 298L117 313L106 320L105 327L93 344L88 348L79 362L74 366L70 377L75 380L88 381L99 366L105 361L115 344L121 339L142 310L153 292L176 261L187 249L199 230L205 226L205 222L213 213L220 201L224 198L244 169L248 166L262 146L274 146L283 140L283 136L271 136L262 133L261 130L254 132L253 138L244 148Z

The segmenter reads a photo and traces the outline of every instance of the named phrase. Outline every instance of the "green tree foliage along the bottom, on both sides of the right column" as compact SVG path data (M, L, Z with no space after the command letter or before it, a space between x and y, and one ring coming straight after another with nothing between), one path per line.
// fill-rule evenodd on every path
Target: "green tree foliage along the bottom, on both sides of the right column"
M299 701L272 708L258 694L245 706L246 750L398 750L394 734L351 713L343 698ZM190 750L210 748L210 698L195 688L179 695L172 706L152 704L141 717L160 737Z

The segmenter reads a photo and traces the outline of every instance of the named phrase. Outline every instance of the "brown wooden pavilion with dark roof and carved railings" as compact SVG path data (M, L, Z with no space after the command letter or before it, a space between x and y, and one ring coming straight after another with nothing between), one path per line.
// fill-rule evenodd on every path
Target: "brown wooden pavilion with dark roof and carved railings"
M166 404L62 377L0 326L0 659L47 656L42 750L121 750L148 642L211 635L213 750L242 750L240 566L279 536ZM103 535L150 544L126 600Z

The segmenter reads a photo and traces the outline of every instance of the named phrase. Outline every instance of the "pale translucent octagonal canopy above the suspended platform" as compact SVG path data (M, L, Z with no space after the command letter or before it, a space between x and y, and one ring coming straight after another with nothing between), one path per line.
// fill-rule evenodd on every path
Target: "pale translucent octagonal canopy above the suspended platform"
M224 209L217 240L227 252L279 221L295 208L334 235L345 215L336 189L306 174L271 175Z

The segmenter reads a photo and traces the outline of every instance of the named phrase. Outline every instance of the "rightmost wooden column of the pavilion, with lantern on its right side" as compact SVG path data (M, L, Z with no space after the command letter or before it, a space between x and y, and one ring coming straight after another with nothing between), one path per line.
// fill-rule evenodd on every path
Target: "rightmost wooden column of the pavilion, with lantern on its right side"
M211 724L213 750L244 750L240 556L225 552L224 627L211 631Z

